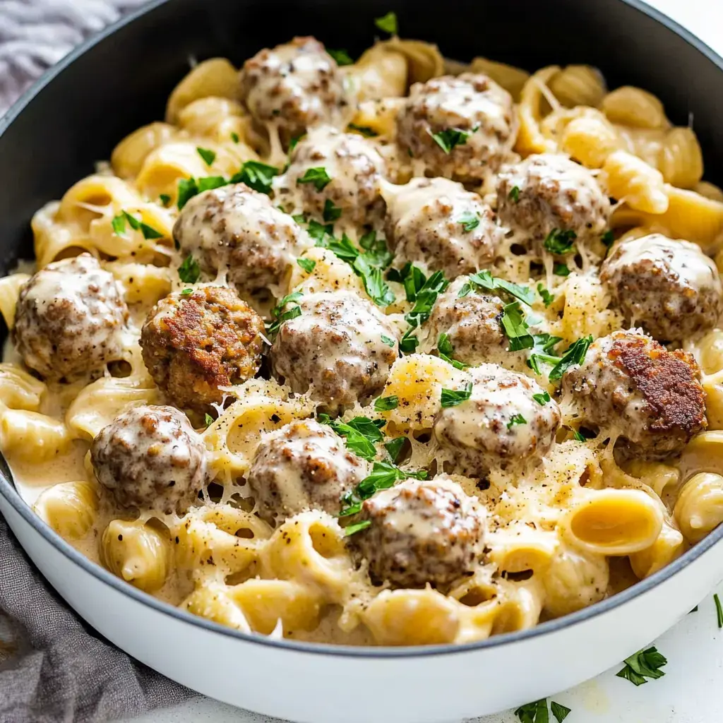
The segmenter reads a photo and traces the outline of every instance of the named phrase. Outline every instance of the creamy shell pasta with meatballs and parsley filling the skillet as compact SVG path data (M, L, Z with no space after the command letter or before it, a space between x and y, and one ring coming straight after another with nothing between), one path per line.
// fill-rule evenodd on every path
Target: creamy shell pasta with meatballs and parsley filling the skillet
M356 61L194 63L38 211L1 449L51 528L194 615L479 641L722 521L723 192L645 90L377 26Z

